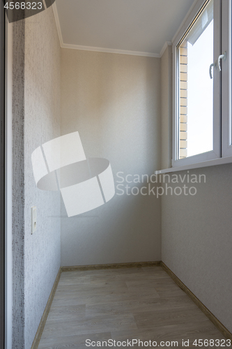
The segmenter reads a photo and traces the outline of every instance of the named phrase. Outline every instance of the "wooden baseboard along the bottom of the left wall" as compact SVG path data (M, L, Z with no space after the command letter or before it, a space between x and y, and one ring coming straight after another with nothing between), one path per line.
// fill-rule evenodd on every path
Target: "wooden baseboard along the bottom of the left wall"
M58 285L60 277L61 277L61 272L62 272L62 270L60 268L59 272L58 272L58 274L56 276L56 280L54 282L54 285L52 287L52 291L51 291L51 293L49 295L49 299L48 299L47 304L45 306L45 311L42 314L42 318L40 320L40 325L39 325L38 330L36 332L36 336L35 336L35 339L33 340L31 349L37 349L38 345L40 343L40 338L42 336L42 331L43 331L43 329L45 327L45 323L46 323L46 320L47 320L47 315L49 314L49 310L50 310L50 308L52 306L52 301L54 299L56 288L57 288L57 285Z

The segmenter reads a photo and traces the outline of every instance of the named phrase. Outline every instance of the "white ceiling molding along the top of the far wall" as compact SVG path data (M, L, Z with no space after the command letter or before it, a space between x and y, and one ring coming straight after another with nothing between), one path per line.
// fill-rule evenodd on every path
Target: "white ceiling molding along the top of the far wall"
M65 44L65 43L63 43L63 45L61 45L61 47L63 47L63 48L70 48L72 50L107 52L107 53L117 53L117 54L130 54L132 56L143 56L143 57L160 58L160 54L159 53L116 50L114 48L111 49L111 48L104 48L104 47L81 46L81 45L72 45L72 44Z

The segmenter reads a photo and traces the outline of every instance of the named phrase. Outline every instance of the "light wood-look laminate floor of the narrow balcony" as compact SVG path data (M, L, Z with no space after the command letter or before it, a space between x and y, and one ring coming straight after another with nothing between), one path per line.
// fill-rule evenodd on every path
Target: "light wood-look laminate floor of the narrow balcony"
M61 274L38 349L154 348L153 341L160 348L173 348L172 341L185 348L183 340L188 348L207 347L194 346L195 339L214 340L209 348L225 341L228 348L162 267L88 270Z

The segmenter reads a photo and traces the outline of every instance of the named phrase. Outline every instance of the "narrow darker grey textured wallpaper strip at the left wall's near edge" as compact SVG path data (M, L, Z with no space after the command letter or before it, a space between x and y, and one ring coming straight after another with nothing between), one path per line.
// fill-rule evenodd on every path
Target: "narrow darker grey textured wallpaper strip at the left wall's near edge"
M13 348L24 348L24 21L13 25Z

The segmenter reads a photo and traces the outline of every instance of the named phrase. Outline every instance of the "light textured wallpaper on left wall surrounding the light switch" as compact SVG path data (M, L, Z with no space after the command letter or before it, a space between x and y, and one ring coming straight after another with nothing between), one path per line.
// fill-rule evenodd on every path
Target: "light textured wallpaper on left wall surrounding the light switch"
M31 348L61 265L60 193L36 188L31 153L60 135L61 48L52 8L25 21L25 348ZM31 206L37 230L31 235Z

